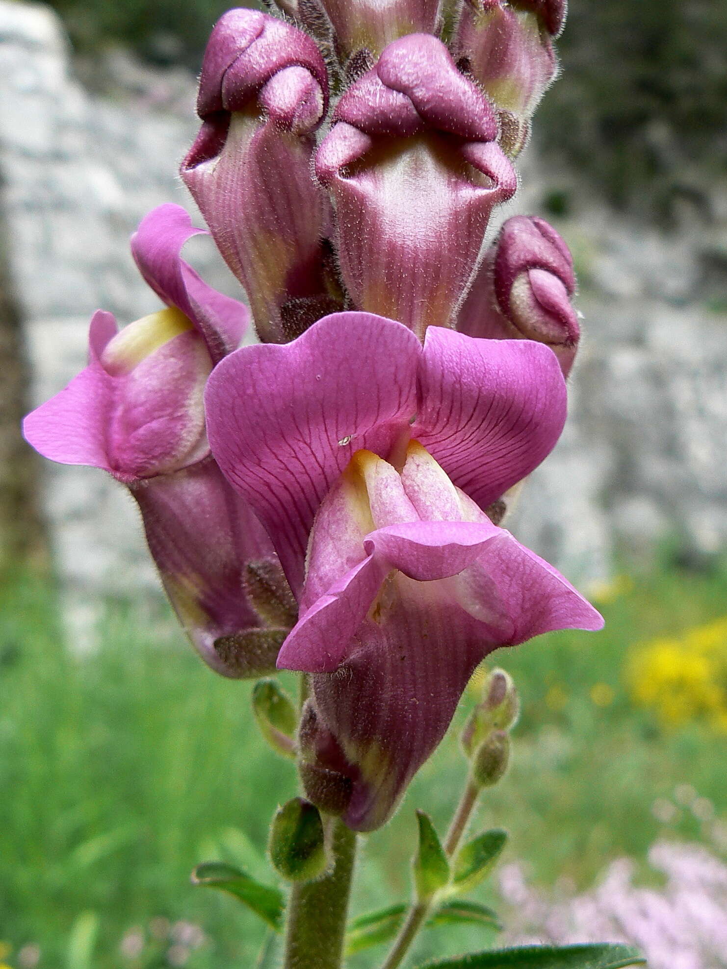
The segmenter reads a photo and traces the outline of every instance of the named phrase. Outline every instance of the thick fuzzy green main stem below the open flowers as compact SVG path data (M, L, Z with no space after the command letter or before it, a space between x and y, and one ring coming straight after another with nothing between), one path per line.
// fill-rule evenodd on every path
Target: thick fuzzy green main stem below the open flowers
M284 969L340 969L356 834L332 820L333 867L315 882L293 886L288 903Z

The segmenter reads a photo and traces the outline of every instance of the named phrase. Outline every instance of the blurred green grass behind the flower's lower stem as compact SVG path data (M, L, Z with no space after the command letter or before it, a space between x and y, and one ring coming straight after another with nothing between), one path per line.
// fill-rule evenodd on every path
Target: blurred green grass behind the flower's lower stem
M509 828L505 860L526 860L543 884L566 876L585 887L617 855L643 859L664 828L652 804L678 785L710 798L717 816L727 812L723 736L698 725L664 734L633 707L623 685L635 643L724 612L727 568L662 568L623 585L603 606L603 633L561 633L493 657L516 678L522 719L513 767L483 798L478 823ZM142 621L138 610L116 605L103 646L80 659L62 648L58 603L47 584L8 582L0 607L6 961L16 966L14 953L33 944L41 948L41 966L169 965L164 940L152 957L151 950L136 960L119 951L126 932L145 930L152 919L164 934L164 919L204 930L205 945L186 963L192 969L254 965L264 928L232 899L189 884L191 868L213 859L273 880L265 860L268 823L278 801L294 793L295 776L257 735L251 684L207 671L166 615ZM465 694L458 722L473 698L473 691ZM394 822L366 839L356 911L407 895L413 810L423 807L445 828L463 775L453 731ZM688 812L670 829L702 836ZM491 892L480 897L496 901ZM489 943L458 930L425 938L420 952ZM370 966L376 956L362 953L351 964Z

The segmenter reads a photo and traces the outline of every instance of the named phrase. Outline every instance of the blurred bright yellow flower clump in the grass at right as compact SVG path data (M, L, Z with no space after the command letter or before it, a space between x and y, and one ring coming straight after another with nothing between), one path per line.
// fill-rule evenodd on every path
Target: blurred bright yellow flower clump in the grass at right
M665 726L701 720L727 733L727 617L638 647L626 678L632 699Z

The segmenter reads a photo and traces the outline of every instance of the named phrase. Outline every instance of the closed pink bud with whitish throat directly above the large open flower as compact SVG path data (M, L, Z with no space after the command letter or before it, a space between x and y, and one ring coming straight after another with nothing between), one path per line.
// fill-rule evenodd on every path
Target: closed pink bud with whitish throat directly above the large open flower
M451 325L492 207L517 187L496 119L426 34L386 47L339 101L316 156L355 306L423 337Z

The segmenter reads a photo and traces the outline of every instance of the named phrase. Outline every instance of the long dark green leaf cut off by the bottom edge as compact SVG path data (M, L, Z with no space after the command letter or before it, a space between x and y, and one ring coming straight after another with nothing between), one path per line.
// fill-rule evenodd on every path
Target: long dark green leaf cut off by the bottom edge
M646 961L632 946L523 946L427 962L421 969L623 969Z

